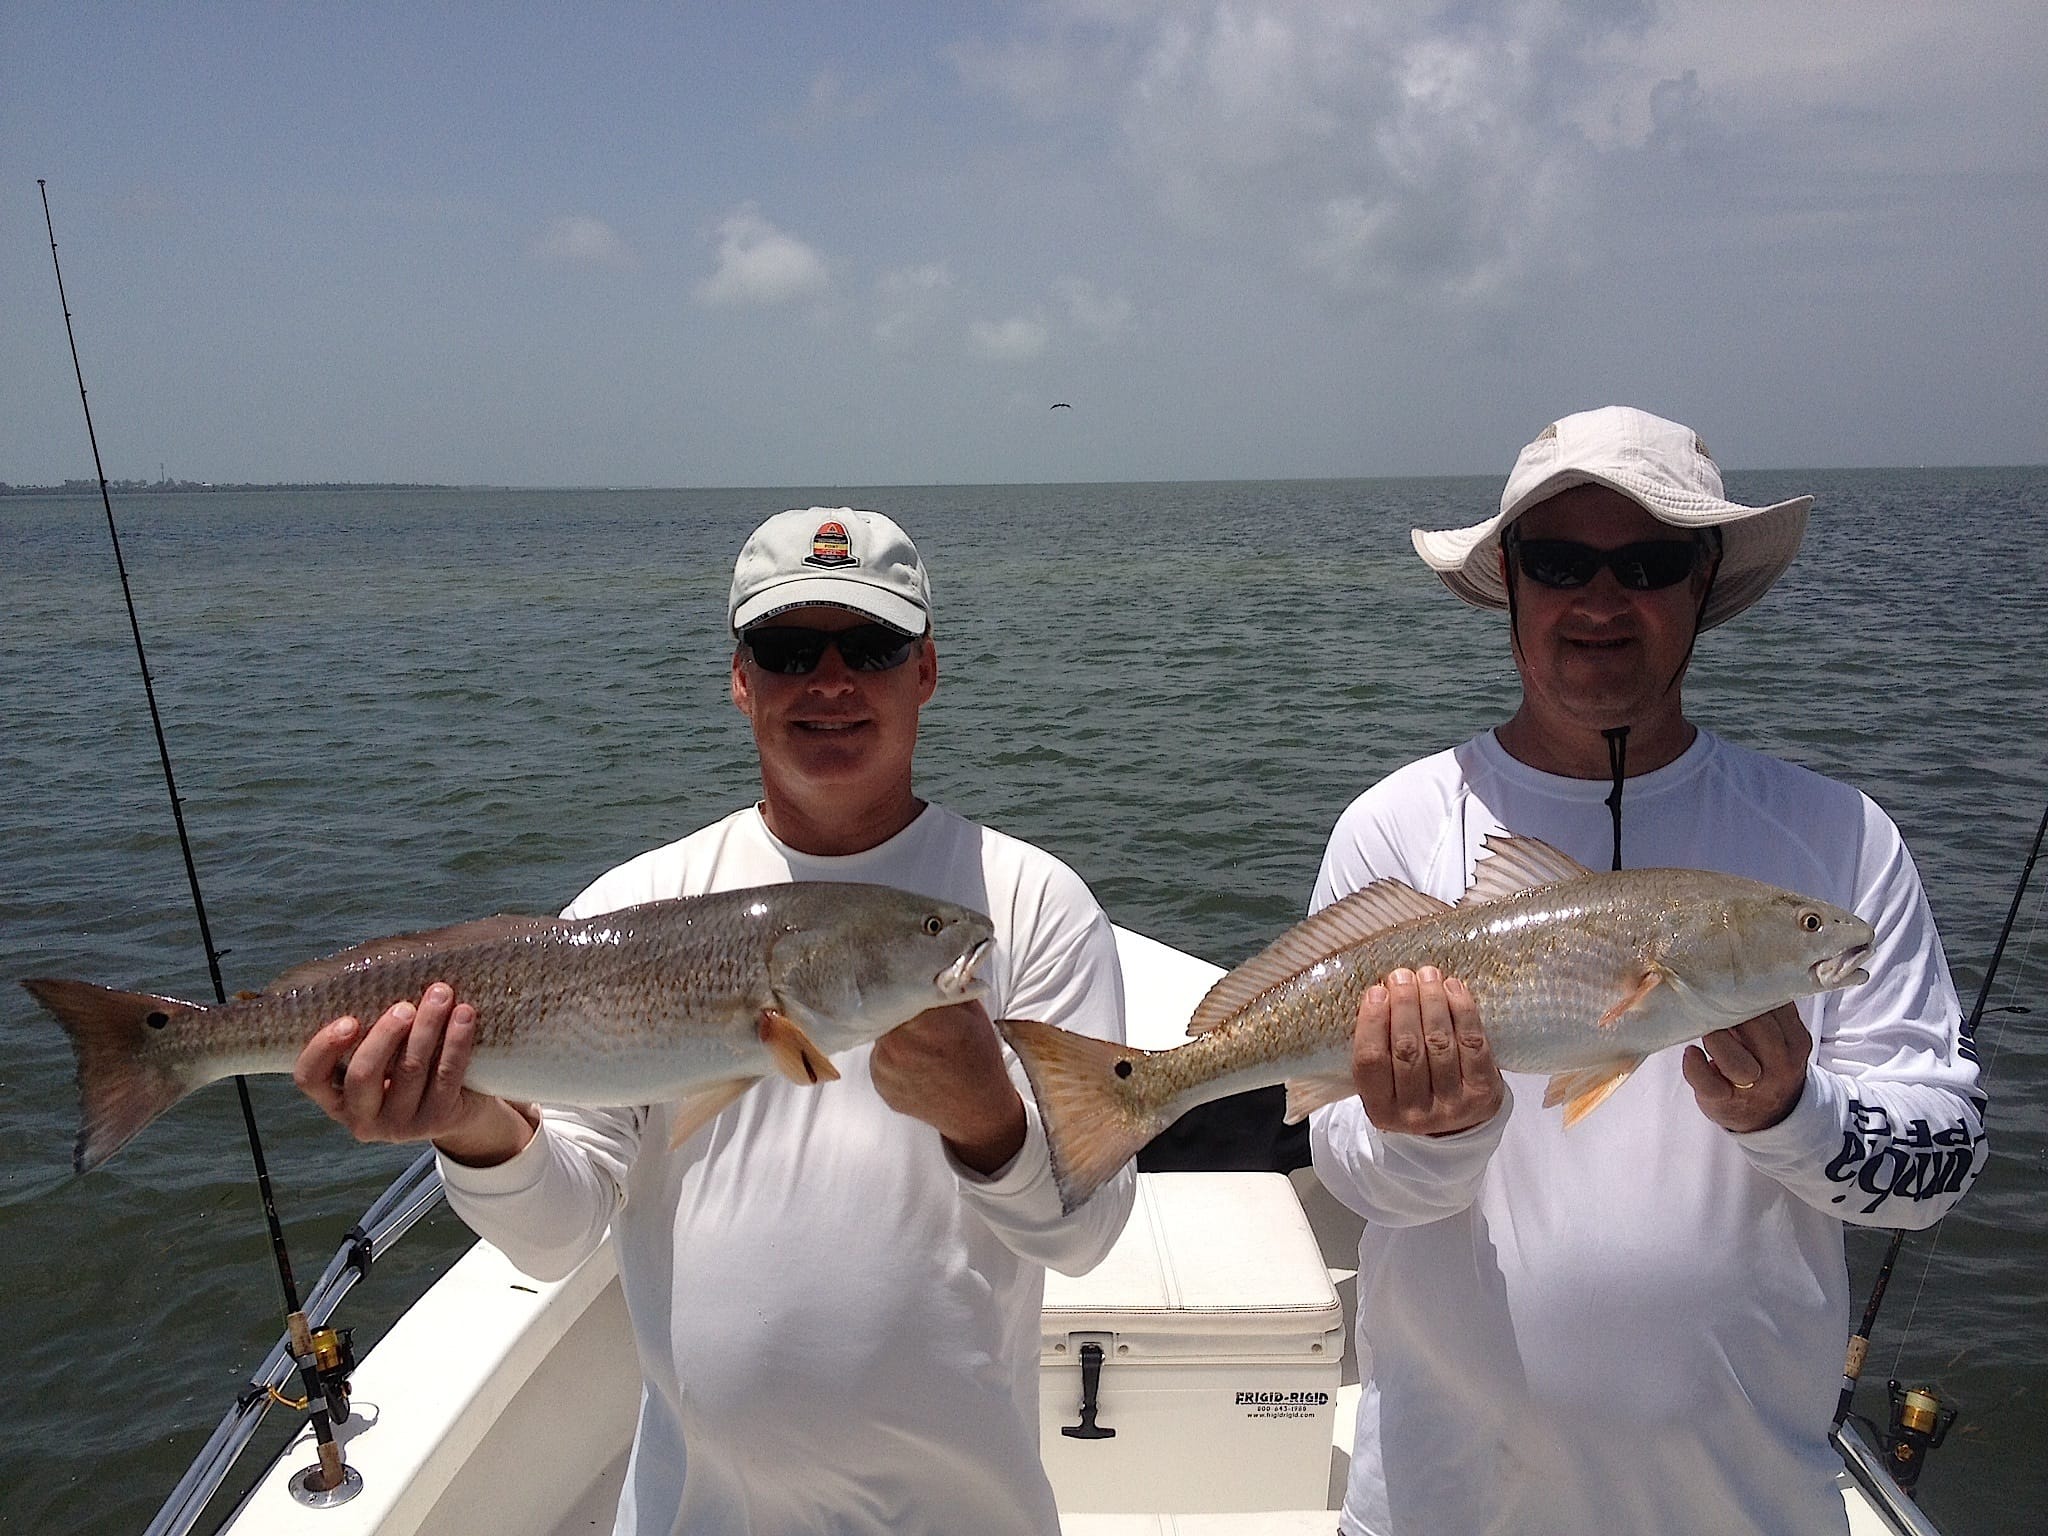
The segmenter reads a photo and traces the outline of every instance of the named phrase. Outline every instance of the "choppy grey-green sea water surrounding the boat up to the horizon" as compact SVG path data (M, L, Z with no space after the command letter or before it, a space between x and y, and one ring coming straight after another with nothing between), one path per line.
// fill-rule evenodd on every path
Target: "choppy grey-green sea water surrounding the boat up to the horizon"
M1710 633L1690 713L1874 795L1964 1004L2048 801L2048 471L1747 473L1815 492L1800 561ZM1337 811L1516 698L1503 625L1407 547L1489 479L127 496L123 549L229 989L373 934L553 911L758 793L727 698L731 557L784 506L877 506L934 571L922 791L1229 965L1303 909ZM209 995L96 500L0 500L0 977ZM1858 1407L1933 1382L1923 1503L2048 1516L2042 887L1980 1032L1993 1159L1892 1280ZM408 1161L252 1094L301 1284ZM0 987L0 1528L139 1530L281 1327L236 1096L88 1178L70 1053ZM358 1348L465 1245L440 1214L344 1307ZM1858 1292L1882 1239L1851 1235ZM285 1432L285 1415L264 1444Z

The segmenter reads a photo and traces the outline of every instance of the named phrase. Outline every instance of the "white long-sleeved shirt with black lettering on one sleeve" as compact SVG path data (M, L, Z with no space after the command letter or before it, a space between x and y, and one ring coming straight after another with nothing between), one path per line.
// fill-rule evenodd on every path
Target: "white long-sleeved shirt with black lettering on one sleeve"
M1354 801L1313 905L1382 877L1456 901L1503 829L1608 868L1608 793L1489 731ZM1878 934L1870 981L1798 1004L1806 1090L1751 1135L1700 1114L1679 1051L1571 1130L1520 1073L1452 1137L1382 1135L1356 1098L1313 1116L1317 1174L1366 1217L1352 1536L1847 1528L1827 1444L1851 1325L1841 1223L1927 1227L1985 1159L1933 915L1872 801L1706 731L1626 780L1622 860L1849 907Z

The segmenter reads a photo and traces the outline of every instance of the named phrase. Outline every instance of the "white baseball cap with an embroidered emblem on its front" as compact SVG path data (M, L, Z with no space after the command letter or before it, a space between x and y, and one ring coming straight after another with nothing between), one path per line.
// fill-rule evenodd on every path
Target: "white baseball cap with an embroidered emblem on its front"
M725 606L733 633L791 608L848 608L905 635L932 627L918 545L881 512L776 512L739 549Z

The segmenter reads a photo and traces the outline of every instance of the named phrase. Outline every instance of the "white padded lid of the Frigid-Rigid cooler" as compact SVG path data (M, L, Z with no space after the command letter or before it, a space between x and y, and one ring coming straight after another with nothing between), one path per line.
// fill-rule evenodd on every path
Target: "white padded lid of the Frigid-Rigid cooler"
M1044 1331L1174 1319L1204 1333L1327 1333L1343 1311L1284 1174L1139 1174L1130 1223L1083 1276L1047 1274Z

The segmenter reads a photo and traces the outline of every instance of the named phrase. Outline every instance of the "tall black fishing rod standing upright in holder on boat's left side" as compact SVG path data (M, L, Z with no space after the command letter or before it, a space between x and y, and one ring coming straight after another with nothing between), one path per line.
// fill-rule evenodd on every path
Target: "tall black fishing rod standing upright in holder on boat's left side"
M156 682L150 676L150 655L141 643L141 621L135 616L135 590L129 586L127 561L121 557L121 532L115 528L115 504L106 492L106 469L100 463L100 438L92 428L92 406L86 401L86 371L78 362L78 334L72 330L72 301L63 291L63 266L57 260L57 225L49 217L49 182L35 178L43 195L43 227L49 231L49 264L57 274L57 303L63 309L63 336L72 346L72 373L78 377L78 406L86 416L86 440L92 444L92 473L100 481L100 506L106 510L106 539L113 543L115 569L121 573L121 596L127 602L129 633L135 637L135 664L141 670L143 696L150 700L150 725L156 731L156 756L164 768L164 788L170 793L170 817L178 825L178 850L184 854L184 879L193 891L193 913L199 918L199 942L207 952L207 973L213 979L213 999L227 1001L227 987L221 983L221 954L213 944L213 928L207 924L207 903L199 893L199 864L193 858L193 840L184 829L184 801L178 795L178 780L170 770L170 743L164 739L164 717L156 707ZM276 1217L276 1196L270 1188L270 1167L262 1155L262 1135L256 1130L256 1108L250 1102L248 1079L236 1077L236 1094L242 1098L242 1126L248 1133L250 1157L256 1163L256 1190L262 1196L264 1223L270 1229L270 1253L276 1260L276 1278L285 1288L285 1327L291 1333L291 1352L299 1364L299 1380L305 1386L305 1407L311 1411L313 1438L319 1462L307 1466L293 1479L293 1493L311 1503L342 1503L354 1497L362 1479L342 1460L342 1450L334 1440L334 1425L348 1419L348 1370L354 1358L346 1335L334 1329L317 1333L305 1321L299 1305L299 1284L291 1274L291 1253L285 1249L285 1227Z

